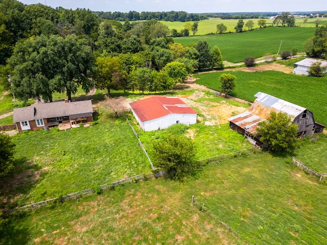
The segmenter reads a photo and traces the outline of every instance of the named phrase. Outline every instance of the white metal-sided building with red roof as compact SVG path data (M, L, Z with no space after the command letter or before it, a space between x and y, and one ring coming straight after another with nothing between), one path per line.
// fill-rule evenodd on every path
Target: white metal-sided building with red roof
M177 97L152 96L130 106L144 131L166 129L173 124L196 124L198 114Z

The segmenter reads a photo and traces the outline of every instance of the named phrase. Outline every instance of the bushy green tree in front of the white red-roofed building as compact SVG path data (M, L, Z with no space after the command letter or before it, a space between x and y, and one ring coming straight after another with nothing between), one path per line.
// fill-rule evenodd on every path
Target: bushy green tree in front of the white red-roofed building
M165 134L153 142L152 151L155 165L169 179L182 181L200 169L195 144L184 135Z

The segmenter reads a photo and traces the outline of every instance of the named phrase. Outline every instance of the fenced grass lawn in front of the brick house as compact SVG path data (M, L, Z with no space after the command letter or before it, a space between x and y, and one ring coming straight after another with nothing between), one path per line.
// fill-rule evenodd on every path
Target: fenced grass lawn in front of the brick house
M16 196L11 208L151 172L123 118L66 131L39 130L12 140L22 173L1 191L12 200Z

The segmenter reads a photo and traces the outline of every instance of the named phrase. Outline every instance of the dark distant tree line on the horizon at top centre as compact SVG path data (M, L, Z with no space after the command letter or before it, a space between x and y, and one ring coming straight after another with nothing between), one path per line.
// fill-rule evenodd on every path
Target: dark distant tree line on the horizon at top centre
M189 14L184 11L170 11L170 12L146 12L141 13L136 11L129 11L128 13L123 12L95 12L102 19L112 19L118 21L135 21L135 20L164 20L164 21L199 21L202 19L208 19L204 14Z

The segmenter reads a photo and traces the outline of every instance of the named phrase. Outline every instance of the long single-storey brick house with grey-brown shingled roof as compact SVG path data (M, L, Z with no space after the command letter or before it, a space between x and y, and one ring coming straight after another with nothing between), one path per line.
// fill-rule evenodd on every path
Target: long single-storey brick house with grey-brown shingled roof
M24 130L48 129L58 126L61 129L70 129L80 122L93 121L92 102L65 101L34 104L29 107L15 108L13 121L19 133Z

